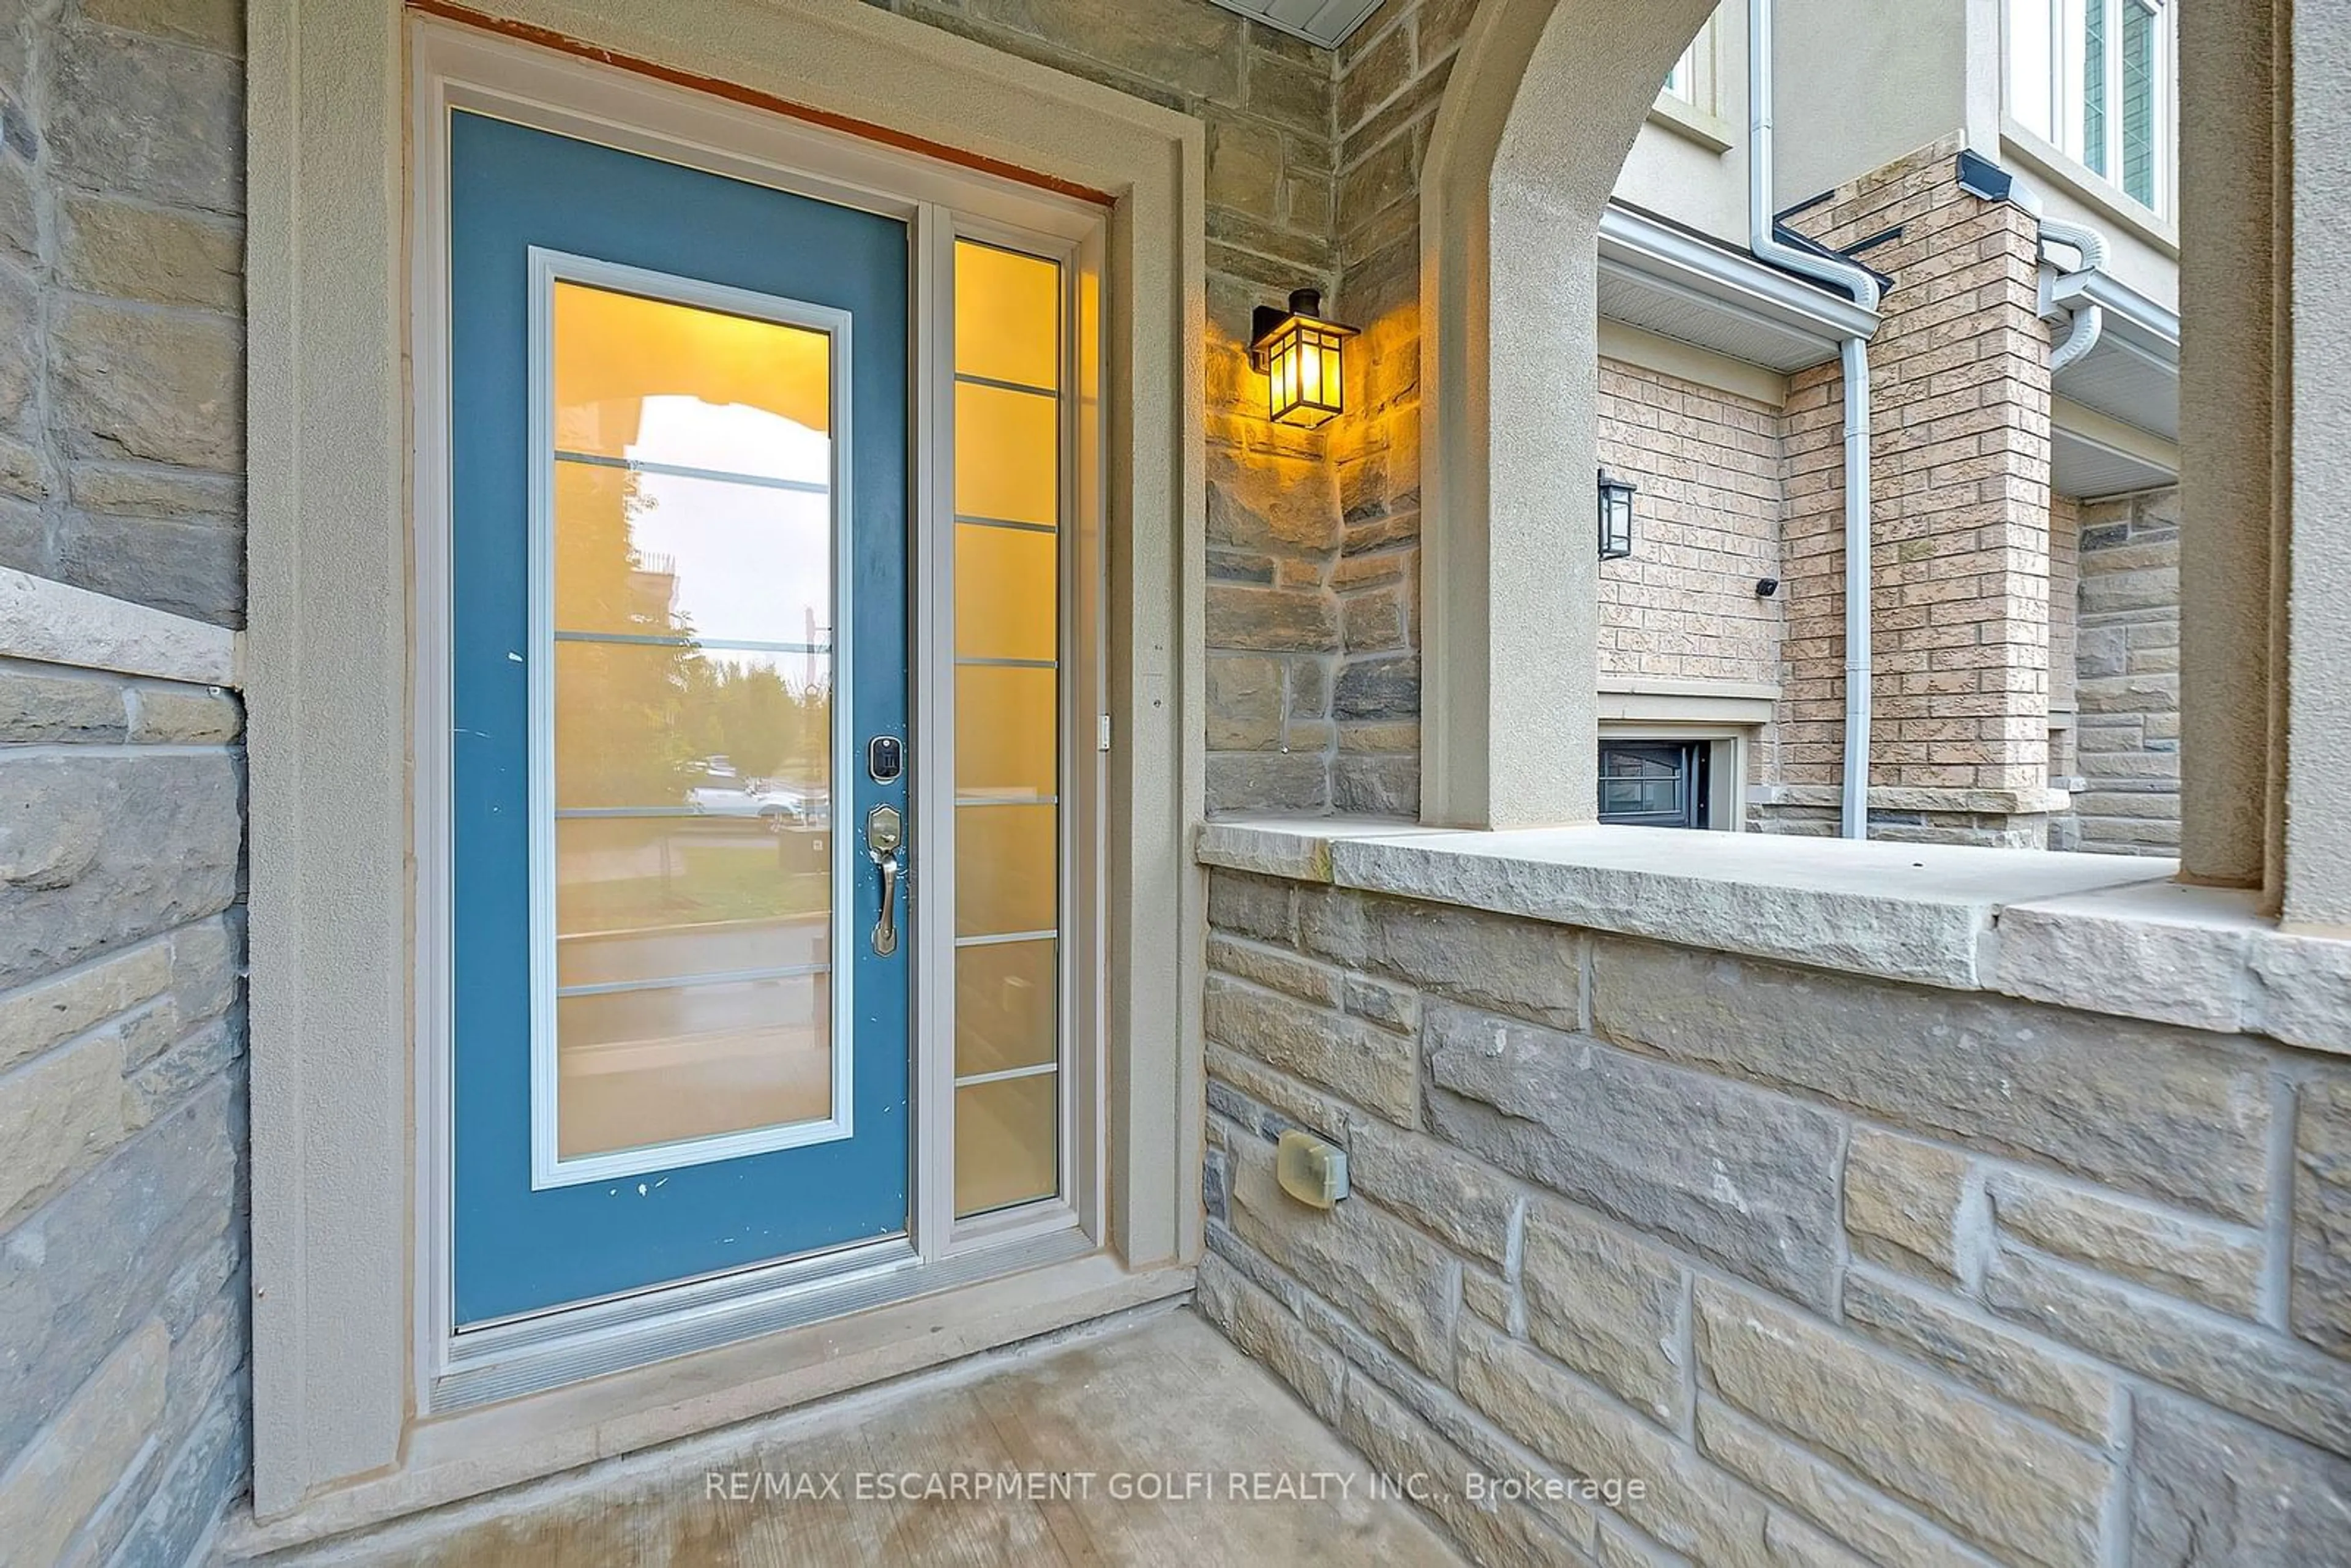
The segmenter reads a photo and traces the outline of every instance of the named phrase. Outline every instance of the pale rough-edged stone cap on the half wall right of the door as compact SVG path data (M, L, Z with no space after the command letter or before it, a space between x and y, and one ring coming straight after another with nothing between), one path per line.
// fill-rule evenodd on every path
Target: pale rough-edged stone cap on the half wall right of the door
M1674 827L1220 818L1204 865L2351 1056L2351 938L2177 863Z

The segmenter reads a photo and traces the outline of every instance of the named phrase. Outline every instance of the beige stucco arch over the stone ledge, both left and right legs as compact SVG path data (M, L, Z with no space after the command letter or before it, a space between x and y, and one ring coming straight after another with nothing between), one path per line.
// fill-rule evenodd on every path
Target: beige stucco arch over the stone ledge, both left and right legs
M1432 825L1596 799L1594 235L1707 0L1486 0L1420 179L1422 755ZM2342 45L2266 2L2179 28L2182 860L2290 924L2351 922L2351 658L2335 592ZM2309 129L2309 134L2299 134Z

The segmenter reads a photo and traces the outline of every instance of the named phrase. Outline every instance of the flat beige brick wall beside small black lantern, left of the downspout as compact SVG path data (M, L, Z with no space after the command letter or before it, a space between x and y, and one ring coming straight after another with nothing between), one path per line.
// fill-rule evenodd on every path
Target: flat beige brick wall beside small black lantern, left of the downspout
M1641 487L1601 562L1601 684L1780 679L1780 409L1601 360L1599 456Z

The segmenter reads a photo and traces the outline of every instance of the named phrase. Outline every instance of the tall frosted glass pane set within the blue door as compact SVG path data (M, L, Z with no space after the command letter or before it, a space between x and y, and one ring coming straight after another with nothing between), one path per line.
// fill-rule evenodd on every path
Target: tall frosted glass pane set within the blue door
M550 357L555 1157L820 1124L832 336L555 277Z

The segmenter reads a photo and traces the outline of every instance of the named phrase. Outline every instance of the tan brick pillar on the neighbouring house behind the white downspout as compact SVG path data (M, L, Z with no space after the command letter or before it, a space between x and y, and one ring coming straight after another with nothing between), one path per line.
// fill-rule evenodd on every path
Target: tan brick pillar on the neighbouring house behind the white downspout
M1871 360L1871 837L2048 842L2050 386L2034 223L1958 188L1958 139L1794 219L1895 275ZM1787 409L1789 827L1843 752L1843 411L1836 364ZM1808 823L1808 825L1810 825Z

